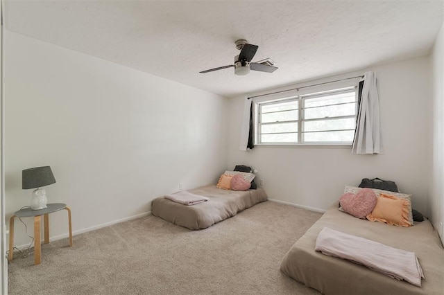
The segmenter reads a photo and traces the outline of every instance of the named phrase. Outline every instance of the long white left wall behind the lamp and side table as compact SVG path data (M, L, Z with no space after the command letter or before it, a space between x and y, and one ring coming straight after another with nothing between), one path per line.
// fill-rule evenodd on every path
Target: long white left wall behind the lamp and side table
M46 195L71 207L74 232L147 213L179 183L216 183L226 169L227 98L10 31L5 46L8 220L30 203L26 168L51 166ZM67 234L65 211L50 231ZM29 242L16 221L15 244Z

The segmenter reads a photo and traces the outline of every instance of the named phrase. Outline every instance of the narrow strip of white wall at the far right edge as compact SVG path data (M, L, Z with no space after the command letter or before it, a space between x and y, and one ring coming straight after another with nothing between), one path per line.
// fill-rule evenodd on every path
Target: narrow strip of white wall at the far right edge
M433 81L433 181L429 197L432 222L444 240L440 222L444 222L444 24L436 37L431 54Z

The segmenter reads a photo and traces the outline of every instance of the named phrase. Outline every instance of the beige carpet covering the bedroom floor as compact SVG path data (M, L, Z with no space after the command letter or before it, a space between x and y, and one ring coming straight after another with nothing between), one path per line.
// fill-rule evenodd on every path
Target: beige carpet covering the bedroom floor
M10 294L318 294L280 260L321 213L264 202L202 231L149 215L16 256ZM80 216L73 216L80 218Z

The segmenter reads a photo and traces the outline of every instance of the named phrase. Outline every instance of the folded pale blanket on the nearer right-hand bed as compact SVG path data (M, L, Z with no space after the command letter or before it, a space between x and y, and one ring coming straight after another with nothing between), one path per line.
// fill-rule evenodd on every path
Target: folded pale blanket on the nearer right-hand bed
M365 265L397 280L421 287L422 274L416 254L379 242L323 228L316 239L316 251Z

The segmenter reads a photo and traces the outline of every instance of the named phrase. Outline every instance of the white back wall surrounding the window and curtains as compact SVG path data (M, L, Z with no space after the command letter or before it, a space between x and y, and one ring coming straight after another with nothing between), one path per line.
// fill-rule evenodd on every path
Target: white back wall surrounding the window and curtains
M264 179L264 189L270 199L320 210L339 199L344 186L358 186L364 177L391 179L402 192L413 194L413 208L428 214L432 152L429 57L368 70L375 71L379 83L386 154L357 156L350 154L350 149L339 147L258 146L242 152L239 134L244 98L239 97L230 99L228 166L244 163L259 170L258 179ZM362 73L364 71L292 87Z

